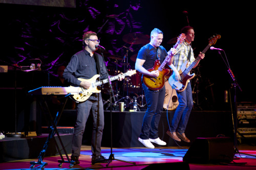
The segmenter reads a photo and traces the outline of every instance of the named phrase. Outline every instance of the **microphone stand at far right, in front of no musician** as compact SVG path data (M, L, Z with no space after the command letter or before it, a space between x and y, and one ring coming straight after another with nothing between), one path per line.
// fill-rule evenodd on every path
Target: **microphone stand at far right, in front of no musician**
M224 50L221 50L224 52ZM219 54L220 56L222 57L221 55L221 52L219 51ZM224 52L225 54L225 52ZM226 56L226 54L225 54ZM228 63L228 60L227 60L227 57L226 57L226 61L224 60L224 58L222 57L224 63L226 64L227 68L228 68L228 73L229 75L231 76L232 80L233 80L233 86L234 86L234 113L232 113L233 111L231 110L231 113L232 113L232 117L233 117L233 128L234 128L234 154L243 154L243 155L249 155L249 156L254 156L256 157L256 155L251 155L251 154L246 154L246 153L241 153L239 152L238 148L237 148L237 131L238 131L238 116L237 116L237 113L238 113L238 108L237 108L237 86L239 87L240 91L242 91L241 87L239 86L236 78L234 77L233 75L233 72L232 70L230 69L230 66L229 66L229 63ZM231 102L230 102L231 104ZM232 107L231 107L232 108Z

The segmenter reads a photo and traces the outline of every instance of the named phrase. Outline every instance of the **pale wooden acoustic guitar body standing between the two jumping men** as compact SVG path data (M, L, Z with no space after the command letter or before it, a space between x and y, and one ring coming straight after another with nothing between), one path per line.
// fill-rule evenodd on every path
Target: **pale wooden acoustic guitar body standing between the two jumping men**
M163 108L166 110L175 110L179 105L176 90L170 86L169 82L165 82L165 98Z

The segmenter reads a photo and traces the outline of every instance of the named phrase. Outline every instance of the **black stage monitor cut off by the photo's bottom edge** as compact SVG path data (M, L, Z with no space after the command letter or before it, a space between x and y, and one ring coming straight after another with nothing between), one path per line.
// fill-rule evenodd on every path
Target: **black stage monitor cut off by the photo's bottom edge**
M189 165L186 162L172 162L172 163L153 163L143 168L143 170L156 169L184 169L189 170Z

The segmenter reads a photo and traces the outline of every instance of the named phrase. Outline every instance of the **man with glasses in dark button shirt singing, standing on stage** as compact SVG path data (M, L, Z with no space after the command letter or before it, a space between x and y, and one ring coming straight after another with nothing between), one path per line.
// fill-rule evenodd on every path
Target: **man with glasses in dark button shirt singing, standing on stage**
M63 72L63 77L72 85L80 86L88 89L91 86L90 81L80 81L78 78L91 79L95 75L101 75L100 80L108 78L107 70L103 57L98 53L96 44L99 44L97 34L88 31L83 34L82 43L84 49L72 56L68 66ZM124 79L124 76L119 76L119 81ZM104 110L101 98L101 93L93 93L88 100L79 102L76 106L77 119L75 131L72 141L71 160L75 164L79 164L79 156L82 144L82 136L86 127L86 122L89 115L93 118L92 132L92 164L108 163L108 159L101 155L101 139L104 127Z

